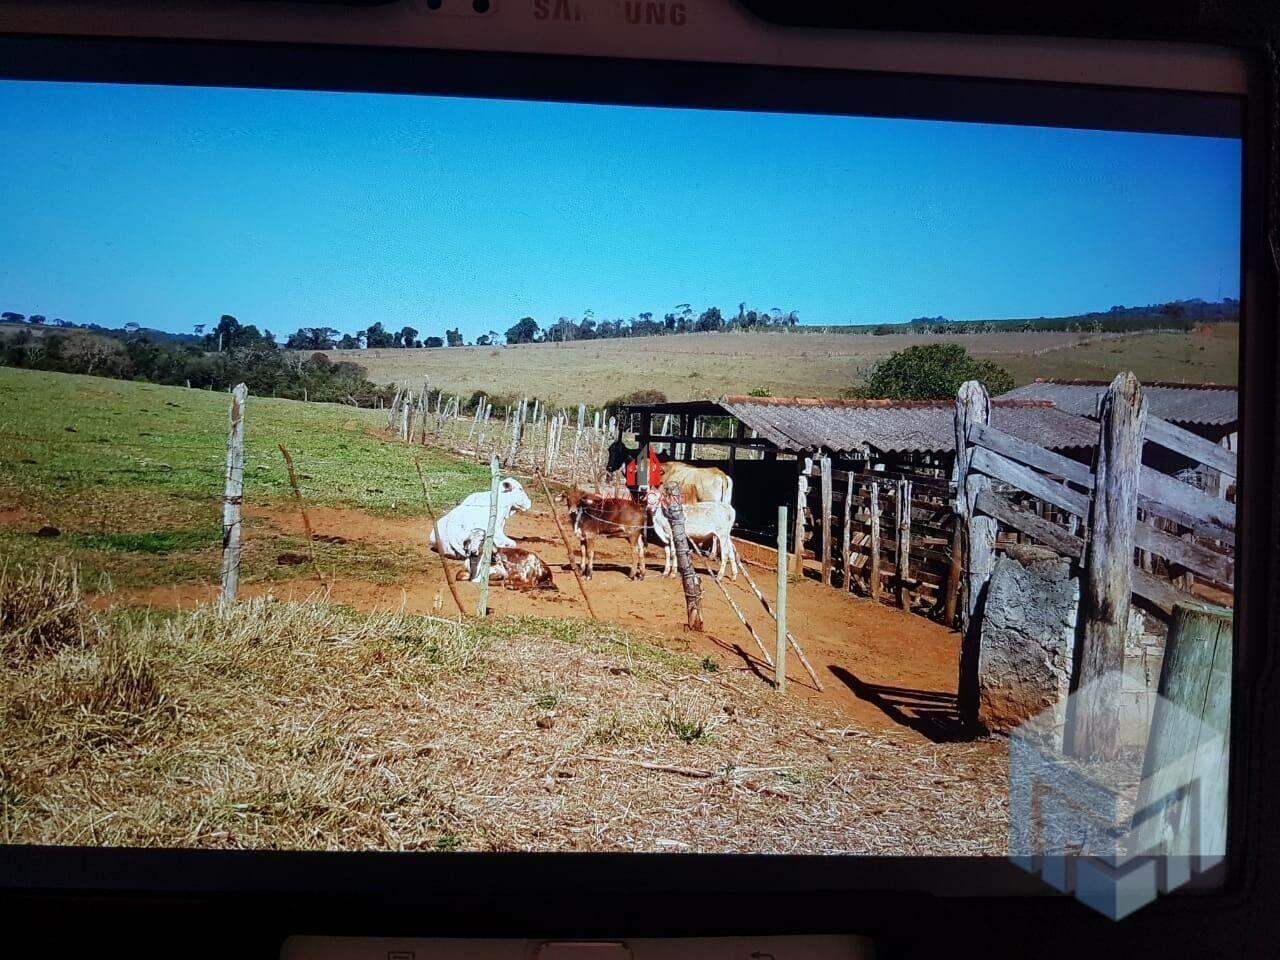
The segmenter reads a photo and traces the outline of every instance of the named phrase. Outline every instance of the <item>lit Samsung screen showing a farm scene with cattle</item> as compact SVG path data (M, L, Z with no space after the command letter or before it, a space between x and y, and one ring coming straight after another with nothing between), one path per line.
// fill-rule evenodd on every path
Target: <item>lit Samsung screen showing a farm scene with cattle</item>
M1239 132L0 118L5 844L1221 852Z

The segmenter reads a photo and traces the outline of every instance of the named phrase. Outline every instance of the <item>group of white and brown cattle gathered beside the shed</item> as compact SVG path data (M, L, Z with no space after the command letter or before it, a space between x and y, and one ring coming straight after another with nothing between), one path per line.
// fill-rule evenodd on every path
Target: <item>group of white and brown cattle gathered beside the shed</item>
M621 442L614 443L609 448L605 472L627 470L634 463L634 456L628 456L631 453ZM626 475L631 479L634 468ZM733 481L716 467L695 467L680 461L659 462L657 458L650 467L649 480L646 486L632 486L630 497L611 497L579 488L564 492L562 500L568 508L573 535L577 538L581 575L591 577L595 541L603 536L626 540L632 547L630 577L644 580L645 541L652 532L663 548L663 576L675 576L675 538L664 511L671 497L668 490L675 488L684 503L689 541L707 556L719 558L717 577L724 576L728 568L736 580L737 553L731 536L736 521L731 503ZM550 567L536 553L520 547L506 531L506 522L512 513L531 507L529 494L518 480L508 476L499 481L497 506L489 580L502 582L512 590L556 590ZM458 572L458 580L480 580L480 558L489 512L490 493L472 493L440 517L430 532L429 541L436 553L467 562L467 567Z

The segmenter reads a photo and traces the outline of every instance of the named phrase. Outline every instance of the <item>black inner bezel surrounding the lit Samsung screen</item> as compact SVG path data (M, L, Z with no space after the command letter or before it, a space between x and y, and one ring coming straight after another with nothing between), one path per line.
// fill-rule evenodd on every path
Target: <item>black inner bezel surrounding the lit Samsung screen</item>
M1101 86L887 74L810 68L753 67L689 61L622 60L586 56L493 54L387 47L102 40L86 37L0 38L0 78L179 86L269 87L349 92L429 93L517 100L562 100L783 113L859 114L916 119L1080 127L1139 132L1236 136L1244 142L1242 197L1242 424L1244 494L1239 544L1236 684L1233 704L1233 791L1228 869L1224 887L1148 908L1156 916L1216 909L1236 899L1251 876L1245 836L1257 823L1249 804L1251 739L1266 676L1267 625L1272 622L1271 558L1267 553L1271 460L1276 422L1274 335L1275 294L1263 270L1265 137L1260 102L1251 97ZM1266 422L1265 422L1266 421ZM1257 495L1249 493L1257 492ZM1274 493L1271 494L1274 497ZM1252 520L1251 520L1252 515ZM1252 639L1252 640L1251 640ZM617 918L639 915L654 896L698 891L700 901L733 899L744 890L771 902L842 899L837 920L808 923L803 914L740 914L731 931L777 928L828 932L867 928L881 919L924 910L928 895L1020 897L1046 893L1038 879L1002 858L792 858L699 856L685 854L315 854L211 850L119 850L91 847L0 847L0 888L84 896L163 896L244 901L271 897L274 909L307 902L306 929L358 932L358 905L431 904L440 932L451 923L463 933L479 916L462 904L485 897L532 895L535 909L508 908L504 920L530 934L559 891L577 905L579 936L617 929ZM584 891L586 891L584 893ZM859 905L847 902L859 893ZM612 897L632 897L613 904ZM581 915L584 899L595 904ZM344 902L340 914L316 909ZM1052 913L1073 910L1065 902ZM1014 901L1006 901L1012 909ZM905 908L904 905L911 906ZM1176 906L1175 906L1176 904ZM442 911L443 908L443 911ZM552 911L554 913L554 911ZM668 914L671 934L714 933L698 908ZM772 913L772 911L771 911ZM1144 911L1146 913L1146 911ZM381 915L381 914L379 914ZM1075 915L1071 913L1070 915ZM465 919L470 918L470 919ZM497 918L490 916L490 920ZM799 922L797 922L799 920ZM500 920L499 920L500 923ZM835 923L835 925L832 925ZM333 925L329 925L333 924ZM378 927L385 933L385 925ZM515 927L513 927L515 929ZM563 922L547 929L563 933ZM411 932L411 931L406 931Z

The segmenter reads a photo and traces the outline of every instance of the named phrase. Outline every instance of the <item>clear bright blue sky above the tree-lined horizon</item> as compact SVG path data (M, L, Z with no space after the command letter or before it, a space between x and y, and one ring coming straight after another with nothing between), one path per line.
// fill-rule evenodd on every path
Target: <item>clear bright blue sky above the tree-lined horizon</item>
M1238 141L0 82L0 310L467 339L740 301L803 323L1239 296Z

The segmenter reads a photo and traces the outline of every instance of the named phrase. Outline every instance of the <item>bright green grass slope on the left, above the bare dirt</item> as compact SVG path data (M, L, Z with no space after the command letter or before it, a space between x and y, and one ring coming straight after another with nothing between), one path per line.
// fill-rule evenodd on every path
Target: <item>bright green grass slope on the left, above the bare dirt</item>
M0 367L0 489L41 499L127 492L214 503L223 488L228 404L225 394L207 390ZM378 436L383 425L378 411L251 397L246 502L292 497L278 444L293 456L311 503L420 515L419 456L438 507L488 481L479 465Z

